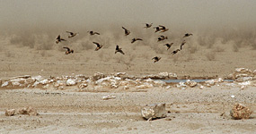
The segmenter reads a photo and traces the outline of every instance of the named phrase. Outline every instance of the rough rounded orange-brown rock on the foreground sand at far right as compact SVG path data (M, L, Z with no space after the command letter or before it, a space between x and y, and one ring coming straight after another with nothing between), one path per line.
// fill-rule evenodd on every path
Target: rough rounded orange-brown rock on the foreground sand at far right
M235 104L230 111L230 115L235 120L249 119L252 114L252 110L242 104Z

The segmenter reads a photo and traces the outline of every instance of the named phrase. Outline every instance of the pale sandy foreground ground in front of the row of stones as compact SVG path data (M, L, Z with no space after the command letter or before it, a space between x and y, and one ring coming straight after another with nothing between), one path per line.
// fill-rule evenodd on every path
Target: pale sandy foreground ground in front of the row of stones
M256 131L255 88L148 88L105 92L1 89L0 133L250 133ZM102 96L116 96L103 100ZM234 97L231 97L231 96ZM146 121L140 108L166 103L168 116ZM234 103L252 109L233 120ZM32 106L40 115L5 116L4 110Z

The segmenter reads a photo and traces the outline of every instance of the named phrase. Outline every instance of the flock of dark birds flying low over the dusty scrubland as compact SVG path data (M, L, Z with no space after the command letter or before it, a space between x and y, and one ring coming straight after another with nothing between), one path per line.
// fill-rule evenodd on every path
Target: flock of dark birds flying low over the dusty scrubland
M146 23L146 27L144 27L144 28L149 29L149 28L152 27L152 25L153 25L153 23ZM128 29L126 29L126 28L124 28L124 27L122 27L122 29L125 30L125 36L128 36L128 35L130 34L130 31L129 31ZM167 29L166 27L164 27L163 25L156 26L156 27L154 27L153 29L155 29L155 31L154 31L155 33L156 33L156 32L163 33L163 32L165 32L165 31L168 30L168 29ZM69 35L68 35L68 38L74 38L76 35L79 34L79 33L74 33L74 32L70 32L70 31L66 31L66 33L69 34ZM88 33L89 33L91 36L93 36L93 35L101 35L99 32L95 32L95 31L93 31L93 30L88 31ZM186 34L183 36L183 38L187 38L187 37L190 37L190 36L192 36L192 35L193 35L193 34L191 34L191 33L186 33ZM57 40L56 40L56 44L58 44L59 42L62 42L62 41L66 41L66 39L61 38L60 35L58 35L56 39L57 39ZM158 39L157 42L160 42L160 41L163 41L163 40L168 39L168 38L167 38L166 36L163 36L163 35L162 35L162 36L159 36L157 39ZM136 41L143 41L143 39L142 39L142 38L132 38L131 43L135 43ZM102 48L102 44L100 44L100 43L98 43L98 42L93 42L93 44L96 45L95 51L98 51L98 50L100 50L100 49ZM183 41L181 42L181 48L180 48L180 49L173 50L173 51L172 51L172 55L173 55L173 54L177 54L179 51L181 51L182 46L184 46L185 44L186 44L186 41L183 40ZM172 47L172 45L173 45L173 43L169 43L169 44L167 43L167 44L164 44L163 46L167 46L167 50L169 50L169 49ZM74 50L73 50L73 49L70 49L69 47L63 47L63 48L66 49L65 54L74 53ZM120 48L120 47L117 45L117 46L116 46L116 50L115 50L115 54L117 54L118 52L119 52L120 54L125 54L125 53L123 52L122 48ZM155 56L154 58L152 58L152 60L154 60L154 63L158 62L160 59L161 59L161 57L158 57L158 56Z

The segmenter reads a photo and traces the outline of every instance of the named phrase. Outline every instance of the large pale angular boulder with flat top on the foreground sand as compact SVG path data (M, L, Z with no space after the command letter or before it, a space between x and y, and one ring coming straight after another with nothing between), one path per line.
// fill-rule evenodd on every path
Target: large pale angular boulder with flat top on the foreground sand
M164 118L167 116L165 104L146 105L141 109L141 115L148 121L155 118Z

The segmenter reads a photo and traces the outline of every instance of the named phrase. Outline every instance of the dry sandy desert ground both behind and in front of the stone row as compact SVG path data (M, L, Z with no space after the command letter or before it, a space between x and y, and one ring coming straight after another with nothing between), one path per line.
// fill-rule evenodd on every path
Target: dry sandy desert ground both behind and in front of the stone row
M134 29L135 31L136 29ZM131 29L131 31L133 31ZM127 72L135 77L173 72L186 78L225 78L236 68L255 70L255 34L202 32L186 38L181 52L183 32L164 33L169 39L157 42L154 29L143 29L128 37L123 30L99 31L100 36L89 36L86 30L75 38L56 44L57 34L66 38L65 31L54 33L8 33L0 38L0 79L22 75L43 78L92 76L95 72L111 74ZM220 36L216 36L220 35ZM143 38L131 44L131 38ZM249 37L249 38L248 38ZM93 41L102 43L94 51ZM163 46L173 42L170 50ZM114 54L119 45L125 52ZM63 46L74 49L65 54ZM162 59L154 63L152 58ZM102 96L116 96L102 100ZM234 96L234 97L231 97ZM77 87L56 88L1 88L0 133L250 133L256 131L255 86L241 89L215 85L210 88L104 88L78 91ZM165 103L168 116L146 121L140 109L144 105ZM234 120L229 111L235 103L247 105L254 111L248 120ZM5 116L6 109L31 106L40 115Z

